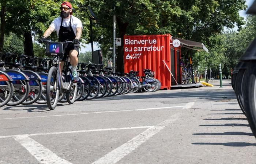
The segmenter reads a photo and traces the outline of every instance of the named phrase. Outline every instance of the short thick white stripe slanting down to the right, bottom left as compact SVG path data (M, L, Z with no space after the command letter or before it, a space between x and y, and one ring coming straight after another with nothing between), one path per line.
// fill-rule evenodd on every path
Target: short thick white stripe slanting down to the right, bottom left
M67 160L64 160L54 154L49 149L45 148L43 145L39 144L37 141L28 137L27 135L20 135L14 138L18 141L31 155L38 160L39 163L49 164L49 163L61 163L61 164L71 164Z

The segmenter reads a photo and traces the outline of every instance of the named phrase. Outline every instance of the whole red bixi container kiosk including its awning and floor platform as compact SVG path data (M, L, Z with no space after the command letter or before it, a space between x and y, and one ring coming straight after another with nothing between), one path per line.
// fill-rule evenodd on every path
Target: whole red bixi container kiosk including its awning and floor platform
M194 81L192 59L189 65L192 84L182 84L181 47L208 52L203 43L176 38L170 34L125 35L124 72L139 71L139 76L143 76L143 69L150 69L155 72L155 78L161 81L163 90L203 86Z

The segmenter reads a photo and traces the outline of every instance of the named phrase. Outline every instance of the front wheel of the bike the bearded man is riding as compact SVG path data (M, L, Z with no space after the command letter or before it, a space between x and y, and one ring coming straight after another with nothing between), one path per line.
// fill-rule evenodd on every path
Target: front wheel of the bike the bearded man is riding
M51 67L47 76L46 83L46 100L50 110L56 108L59 99L59 80L58 72L56 67Z

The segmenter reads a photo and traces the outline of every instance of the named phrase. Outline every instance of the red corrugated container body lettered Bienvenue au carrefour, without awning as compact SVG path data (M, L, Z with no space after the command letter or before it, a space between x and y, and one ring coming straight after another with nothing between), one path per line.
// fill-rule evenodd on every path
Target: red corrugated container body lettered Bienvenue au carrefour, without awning
M172 70L176 81L180 81L180 67L177 65L177 59L180 58L180 47L174 48L170 43L171 35L137 35L124 36L124 72L128 73L130 70L139 71L139 76L143 76L143 69L151 69L155 71L155 78L162 83L161 89L170 89L172 78L170 72L163 63L171 70L171 47L174 51L172 53L173 65ZM177 51L176 51L177 50Z

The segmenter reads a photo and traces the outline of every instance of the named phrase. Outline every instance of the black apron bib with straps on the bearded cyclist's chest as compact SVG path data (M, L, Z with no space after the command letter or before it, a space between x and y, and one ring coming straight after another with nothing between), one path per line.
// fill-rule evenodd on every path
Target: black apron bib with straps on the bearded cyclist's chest
M60 30L59 30L59 42L65 42L67 40L73 41L76 38L76 35L71 26L71 17L69 20L68 27L62 26L62 22L63 22L63 18L61 19L61 25L60 25Z

